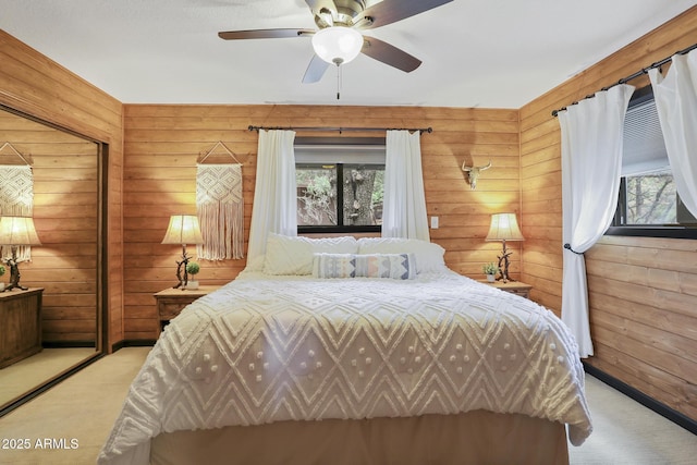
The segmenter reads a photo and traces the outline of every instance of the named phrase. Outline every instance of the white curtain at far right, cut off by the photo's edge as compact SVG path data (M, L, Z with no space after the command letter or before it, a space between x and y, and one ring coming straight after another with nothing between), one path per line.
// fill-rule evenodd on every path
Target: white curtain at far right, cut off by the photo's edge
M658 69L649 77L675 188L697 217L697 50L672 61L665 77Z

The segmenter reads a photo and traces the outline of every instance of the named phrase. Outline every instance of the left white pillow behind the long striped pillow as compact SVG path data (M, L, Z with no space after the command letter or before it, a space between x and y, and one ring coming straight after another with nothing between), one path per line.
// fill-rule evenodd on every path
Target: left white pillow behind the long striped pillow
M311 274L313 254L355 254L358 242L352 236L340 237L292 237L269 233L264 257L267 274Z

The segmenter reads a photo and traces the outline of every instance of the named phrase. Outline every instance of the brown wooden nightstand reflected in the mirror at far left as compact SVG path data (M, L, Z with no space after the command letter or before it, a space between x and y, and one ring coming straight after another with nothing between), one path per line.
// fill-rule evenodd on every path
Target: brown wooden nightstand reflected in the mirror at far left
M41 351L44 289L0 292L0 368Z

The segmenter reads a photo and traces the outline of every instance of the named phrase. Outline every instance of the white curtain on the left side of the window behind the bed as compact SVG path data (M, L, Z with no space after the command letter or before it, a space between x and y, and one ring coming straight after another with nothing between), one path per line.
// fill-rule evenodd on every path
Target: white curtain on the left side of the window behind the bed
M297 235L294 131L259 131L247 268L261 269L269 233Z

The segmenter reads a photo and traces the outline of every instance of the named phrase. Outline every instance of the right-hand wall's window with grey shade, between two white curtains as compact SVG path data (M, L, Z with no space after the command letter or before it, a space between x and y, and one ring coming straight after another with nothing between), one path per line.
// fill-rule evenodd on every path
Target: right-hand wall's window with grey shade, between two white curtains
M697 220L675 191L651 86L632 96L612 235L697 238Z

